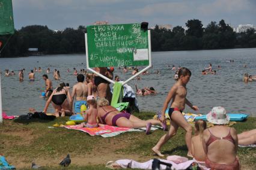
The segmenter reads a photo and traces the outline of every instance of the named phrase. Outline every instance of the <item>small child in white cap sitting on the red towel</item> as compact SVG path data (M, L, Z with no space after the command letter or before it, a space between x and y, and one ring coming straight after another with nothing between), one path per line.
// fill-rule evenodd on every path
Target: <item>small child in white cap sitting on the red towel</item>
M99 127L99 124L97 123L97 104L94 96L87 97L87 104L89 109L87 111L81 112L81 114L83 114L84 120L87 121L87 123L81 123L79 127Z

